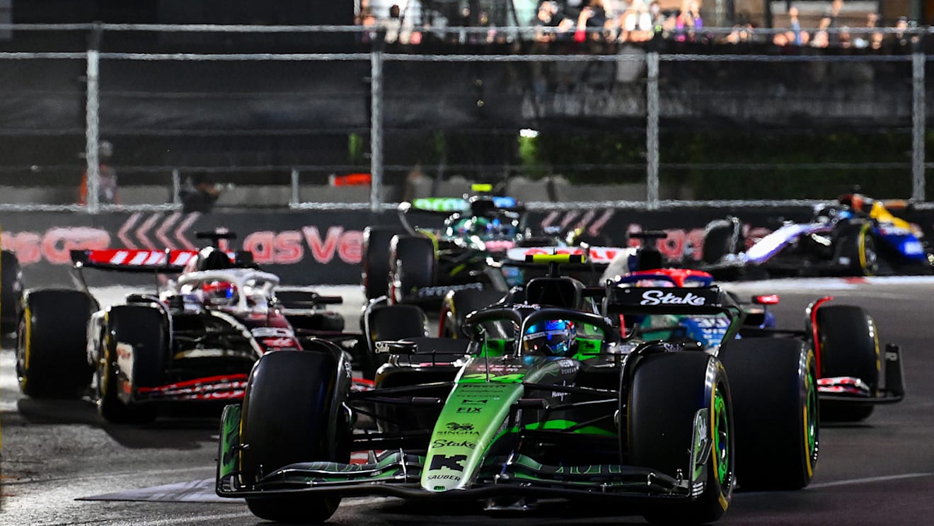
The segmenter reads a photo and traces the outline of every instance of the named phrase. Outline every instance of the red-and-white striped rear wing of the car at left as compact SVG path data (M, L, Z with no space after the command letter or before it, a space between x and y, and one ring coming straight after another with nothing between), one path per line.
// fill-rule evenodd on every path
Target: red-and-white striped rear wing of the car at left
M246 266L253 261L253 254L246 250L224 252L233 266ZM100 249L72 250L71 262L75 268L98 268L119 272L149 272L178 274L185 269L196 250L149 250L149 249Z

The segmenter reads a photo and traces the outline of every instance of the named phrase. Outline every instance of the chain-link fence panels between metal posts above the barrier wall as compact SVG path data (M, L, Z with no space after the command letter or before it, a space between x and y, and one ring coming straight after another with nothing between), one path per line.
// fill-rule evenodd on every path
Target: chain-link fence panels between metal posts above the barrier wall
M921 46L468 53L348 27L54 29L69 36L56 50L0 52L6 209L173 209L199 180L218 206L293 208L379 209L472 182L540 208L786 205L854 185L928 199ZM204 34L245 40L186 51ZM296 34L348 44L303 52Z

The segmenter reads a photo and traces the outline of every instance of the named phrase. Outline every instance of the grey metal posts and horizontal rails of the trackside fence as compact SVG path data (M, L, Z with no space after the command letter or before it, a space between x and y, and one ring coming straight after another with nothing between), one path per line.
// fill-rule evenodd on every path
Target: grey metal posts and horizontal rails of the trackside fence
M0 30L14 29L17 31L31 30L50 30L48 26L38 24L31 25L13 25L0 26ZM462 28L468 33L480 34L482 28ZM98 200L98 187L100 184L101 159L98 156L99 147L102 141L102 113L106 112L106 96L102 97L102 83L106 78L102 75L102 63L110 61L131 62L137 64L164 64L164 63L196 63L196 64L218 64L218 63L239 63L239 64L261 64L270 62L279 63L333 63L348 62L361 64L367 73L368 86L366 93L369 99L367 107L369 113L368 126L360 131L368 136L367 145L369 159L366 165L361 164L341 164L341 165L288 165L278 164L272 166L253 166L242 168L209 168L210 170L230 172L235 170L252 171L256 173L278 172L280 175L276 178L278 186L284 187L284 192L278 195L284 197L278 199L280 206L288 206L293 209L329 209L329 208L349 208L349 209L371 209L374 211L394 206L393 197L401 195L403 192L389 192L389 185L386 184L386 174L388 172L396 174L393 178L399 180L400 174L405 174L413 170L411 164L396 164L386 162L385 141L387 135L395 133L385 129L387 120L387 86L393 79L391 76L398 74L393 69L393 64L534 64L543 65L574 65L574 64L604 64L615 67L618 70L624 68L635 71L636 73L628 79L623 80L633 87L638 87L639 97L630 97L630 102L634 104L623 117L632 121L640 121L644 136L644 163L582 163L578 165L548 165L538 166L540 169L550 175L566 173L569 170L601 170L603 173L617 170L619 173L625 172L628 181L636 179L635 173L641 173L641 176L635 183L638 183L639 192L644 192L639 198L627 197L618 199L575 199L573 195L559 195L560 192L550 192L549 199L531 199L529 205L538 209L561 209L581 206L614 206L630 208L656 209L659 207L671 206L739 206L739 205L761 205L761 206L787 206L812 204L817 199L781 199L781 198L743 198L743 199L703 199L693 198L690 195L677 195L672 198L666 195L665 187L669 184L666 174L676 173L678 171L692 173L715 173L718 171L742 170L750 174L771 174L783 173L787 170L812 171L819 174L826 169L874 169L880 171L904 171L910 176L905 182L910 182L907 186L910 188L908 195L893 195L893 197L910 197L919 206L925 207L926 201L926 169L934 167L934 163L926 162L925 152L925 133L927 128L926 121L926 78L925 69L931 57L927 56L922 50L913 50L906 54L858 54L858 55L837 55L837 54L698 54L698 53L659 53L654 50L638 48L635 50L618 50L612 54L546 54L546 53L527 53L527 54L459 54L459 53L415 53L411 50L393 50L389 48L374 49L367 52L238 52L238 53L187 53L187 52L118 52L112 50L103 50L100 46L100 38L106 32L183 32L183 33L355 33L362 34L369 32L368 35L379 38L380 35L373 30L359 27L345 26L216 26L216 25L140 25L140 24L72 24L68 26L56 26L60 31L87 31L95 37L90 39L90 49L84 51L7 51L0 52L0 61L27 61L27 60L50 60L50 61L82 61L84 63L84 168L87 173L87 202L85 205L76 204L42 204L42 203L4 203L0 204L0 209L4 210L86 210L90 213L97 213L110 210L124 209L176 209L180 207L178 200L178 190L183 184L183 178L187 172L200 171L200 166L119 166L120 174L130 174L135 172L162 173L165 181L165 192L163 203L134 203L121 205L107 205ZM716 35L719 33L728 34L732 28L707 28L706 32ZM765 34L777 34L781 30L760 32ZM856 30L854 30L856 31ZM891 29L881 30L885 34L891 34ZM927 30L915 30L918 35L924 35ZM522 36L532 35L534 30L531 28L502 28L502 34L510 38L520 38ZM659 84L659 79L664 78L662 71L666 64L703 64L705 67L712 64L903 64L910 75L906 75L905 81L911 83L910 100L899 103L902 109L909 112L910 121L911 149L910 158L907 161L898 162L878 162L878 163L680 163L677 161L666 162L667 152L662 146L660 135L663 134L666 119L677 117L678 108L666 104L665 87ZM391 88L389 88L391 90ZM106 93L104 93L106 94ZM390 93L392 97L398 97L398 93ZM541 93L538 93L541 95ZM492 95L491 95L492 96ZM612 93L611 95L612 96ZM543 105L559 104L560 93L545 93L545 98L549 99L542 103L536 98L536 92L531 90L523 94L523 105ZM541 97L538 97L541 98ZM636 100L638 99L638 100ZM671 97L668 97L668 103L671 103ZM483 102L478 100L478 102ZM578 101L579 102L579 101ZM870 103L871 101L864 101ZM903 103L903 104L902 104ZM682 108L683 109L683 108ZM689 108L688 108L689 109ZM539 111L540 108L535 109ZM614 109L625 113L624 110ZM532 112L534 114L534 111ZM556 113L560 115L560 113ZM581 113L582 117L587 117L586 112ZM900 118L900 117L899 117ZM595 119L598 121L598 119ZM431 125L422 124L431 128ZM599 124L595 124L597 126ZM512 165L474 165L474 166L452 166L440 163L445 166L449 173L463 173L465 170L473 170L474 177L477 180L489 178L491 176L500 176L502 174L519 174L534 172L536 166L524 164ZM349 170L365 168L372 178L372 183L367 189L365 196L362 192L355 191L354 201L341 200L320 200L316 197L321 192L315 192L328 185L320 184L322 176L329 173L340 173ZM38 168L40 171L42 167ZM0 170L2 172L3 170ZM424 171L433 172L438 176L441 168L424 168ZM318 180L315 188L309 187L308 179ZM906 178L906 179L907 179ZM677 177L672 180L678 179ZM633 183L633 184L635 184ZM674 184L673 182L671 184ZM154 192L155 187L153 185ZM396 185L398 186L398 184ZM598 189L599 190L599 189ZM596 191L595 191L596 192ZM672 192L668 192L671 194ZM338 195L339 197L339 195Z

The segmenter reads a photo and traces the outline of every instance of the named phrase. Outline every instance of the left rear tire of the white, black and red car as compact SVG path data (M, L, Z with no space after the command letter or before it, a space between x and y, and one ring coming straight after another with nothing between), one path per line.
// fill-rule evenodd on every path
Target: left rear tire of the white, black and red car
M88 320L96 308L82 291L30 291L16 345L20 391L34 398L78 398L91 383Z

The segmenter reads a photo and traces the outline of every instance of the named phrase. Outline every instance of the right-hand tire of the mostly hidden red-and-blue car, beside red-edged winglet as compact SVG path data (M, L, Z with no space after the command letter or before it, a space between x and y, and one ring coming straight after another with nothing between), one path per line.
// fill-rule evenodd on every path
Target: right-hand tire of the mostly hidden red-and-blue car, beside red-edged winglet
M816 315L820 338L820 377L857 377L875 393L879 389L882 359L879 333L870 315L859 306L819 306ZM828 421L868 419L875 405L822 402L821 416Z

